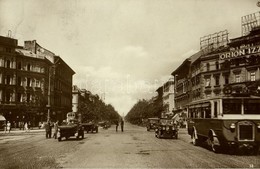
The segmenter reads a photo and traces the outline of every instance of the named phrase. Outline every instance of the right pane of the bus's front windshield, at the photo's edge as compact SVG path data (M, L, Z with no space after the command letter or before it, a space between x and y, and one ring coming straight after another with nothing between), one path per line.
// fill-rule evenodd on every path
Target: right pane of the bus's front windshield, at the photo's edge
M260 100L244 100L244 114L260 114Z

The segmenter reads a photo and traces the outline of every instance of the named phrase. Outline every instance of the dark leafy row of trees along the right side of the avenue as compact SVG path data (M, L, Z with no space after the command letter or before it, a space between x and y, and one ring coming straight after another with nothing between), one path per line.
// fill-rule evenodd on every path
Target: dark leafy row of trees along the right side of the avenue
M164 111L161 98L155 100L139 100L127 113L125 119L132 124L142 124L144 119L150 117L160 117Z

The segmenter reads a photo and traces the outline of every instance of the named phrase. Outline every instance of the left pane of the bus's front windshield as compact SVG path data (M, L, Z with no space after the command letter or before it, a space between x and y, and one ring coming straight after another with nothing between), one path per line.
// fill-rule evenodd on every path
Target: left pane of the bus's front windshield
M223 114L241 114L241 105L241 100L223 99Z

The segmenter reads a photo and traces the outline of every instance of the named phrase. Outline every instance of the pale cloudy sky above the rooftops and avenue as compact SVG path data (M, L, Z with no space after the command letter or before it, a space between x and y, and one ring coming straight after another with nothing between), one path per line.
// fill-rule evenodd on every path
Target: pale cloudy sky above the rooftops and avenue
M200 37L228 30L258 0L0 0L0 35L36 40L75 72L73 84L126 115L200 49Z

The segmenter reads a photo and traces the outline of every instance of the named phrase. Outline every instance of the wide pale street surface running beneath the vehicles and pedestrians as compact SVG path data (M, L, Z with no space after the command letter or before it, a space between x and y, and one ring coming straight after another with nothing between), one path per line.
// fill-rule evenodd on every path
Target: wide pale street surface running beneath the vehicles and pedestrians
M215 154L195 147L181 129L179 139L158 139L146 128L115 126L85 139L46 139L44 131L0 134L0 168L249 168L260 156Z

